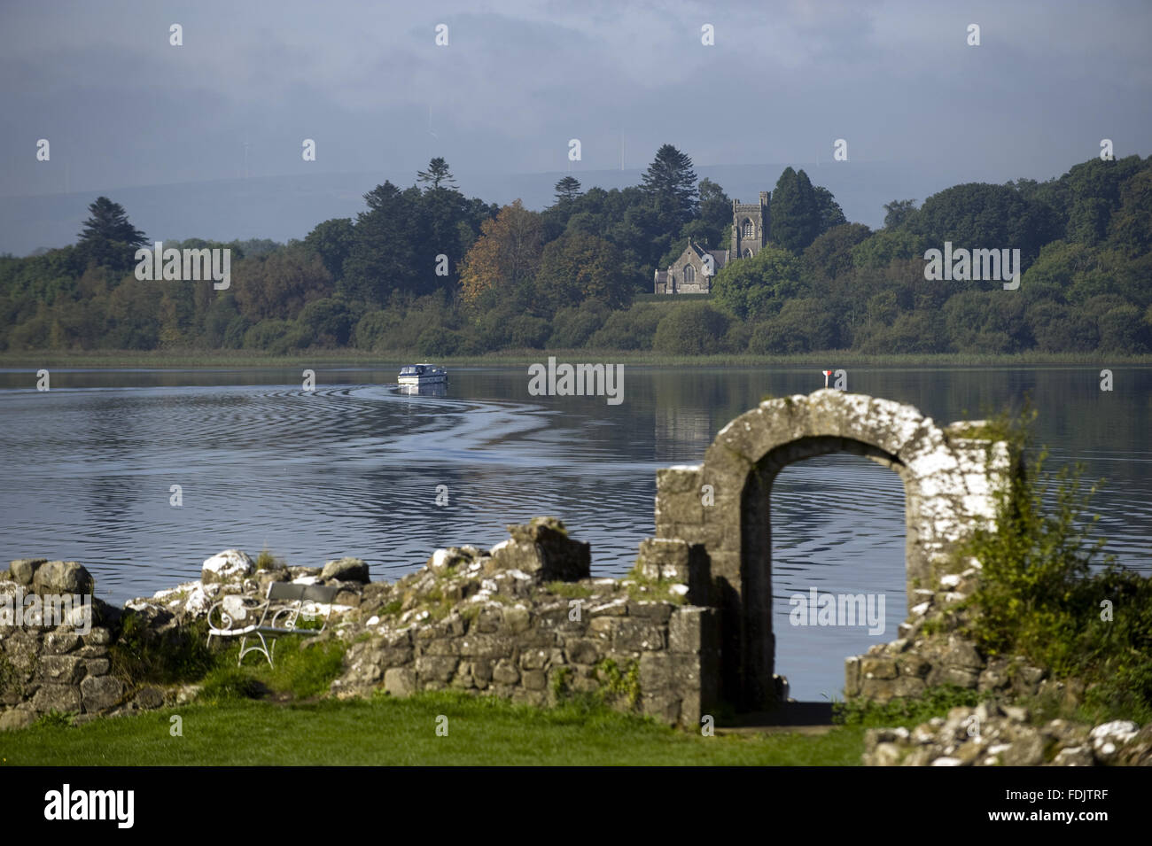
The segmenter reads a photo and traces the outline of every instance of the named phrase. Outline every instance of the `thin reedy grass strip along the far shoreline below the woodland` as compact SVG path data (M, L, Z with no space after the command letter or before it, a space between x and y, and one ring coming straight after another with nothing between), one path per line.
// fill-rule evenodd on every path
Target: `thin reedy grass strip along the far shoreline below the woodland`
M847 350L793 356L665 356L637 350L520 350L486 356L437 358L449 367L526 366L546 361L608 361L646 367L1022 367L1022 366L1152 366L1152 356L1102 356L1100 353L1021 352L1011 356L961 353L871 356ZM291 356L273 356L242 350L98 350L0 353L0 367L393 367L425 360L411 351L365 352L362 350L316 350Z

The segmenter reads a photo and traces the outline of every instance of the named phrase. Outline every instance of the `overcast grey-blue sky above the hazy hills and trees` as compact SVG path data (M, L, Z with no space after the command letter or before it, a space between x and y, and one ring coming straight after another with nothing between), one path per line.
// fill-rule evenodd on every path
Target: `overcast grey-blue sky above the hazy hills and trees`
M577 176L666 142L702 166L806 165L843 138L849 162L1047 178L1101 138L1152 152L1150 41L1146 1L5 0L0 196L235 178L245 142L252 176L444 155L465 192L568 169L570 138Z

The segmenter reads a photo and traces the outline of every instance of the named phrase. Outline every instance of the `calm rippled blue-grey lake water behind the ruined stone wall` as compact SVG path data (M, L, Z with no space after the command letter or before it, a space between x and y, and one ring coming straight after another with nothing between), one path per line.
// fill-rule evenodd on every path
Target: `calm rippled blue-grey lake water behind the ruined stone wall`
M834 366L834 363L829 363ZM1101 366L1106 366L1101 365ZM558 515L620 576L653 533L655 470L695 464L765 394L823 387L819 368L624 367L624 402L533 397L525 368L455 368L447 395L396 392L399 365L293 369L0 371L5 559L84 563L104 599L195 579L203 559L267 547L291 564L366 559L395 579L437 547L492 546L505 525ZM1108 550L1152 571L1152 368L849 368L848 388L940 424L1029 391L1053 466L1083 460ZM173 485L183 505L169 505ZM448 505L438 508L437 487ZM903 489L852 456L791 465L773 490L778 671L793 695L840 695L843 657L904 618ZM793 627L793 593L882 593L886 628Z

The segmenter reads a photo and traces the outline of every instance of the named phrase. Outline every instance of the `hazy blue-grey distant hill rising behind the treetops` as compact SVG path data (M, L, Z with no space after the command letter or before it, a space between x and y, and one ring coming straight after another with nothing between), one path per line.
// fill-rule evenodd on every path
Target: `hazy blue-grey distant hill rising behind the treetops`
M734 199L755 199L771 191L786 165L697 166L700 178L719 183ZM895 162L793 163L803 167L813 184L824 185L840 203L848 220L877 228L884 222L884 204L915 198L923 203L931 193L955 184L942 172ZM626 188L641 182L642 169L573 169L585 188ZM553 185L568 175L561 173L478 175L457 174L460 190L468 197L506 204L517 197L529 208L553 203ZM286 242L303 238L317 223L329 218L354 218L364 209L363 195L386 178L401 188L415 182L415 174L348 173L314 176L262 176L172 185L104 189L35 197L0 197L0 252L26 256L37 249L56 247L76 241L88 205L98 196L124 206L132 223L153 241L175 238L272 238Z

